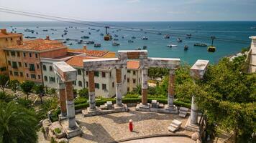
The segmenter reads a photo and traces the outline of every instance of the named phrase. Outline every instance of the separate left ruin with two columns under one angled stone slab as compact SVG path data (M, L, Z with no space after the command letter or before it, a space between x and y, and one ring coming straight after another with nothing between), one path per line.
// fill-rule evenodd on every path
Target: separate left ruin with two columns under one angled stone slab
M73 96L73 81L76 81L77 72L64 61L53 63L53 69L59 79L60 117L68 117L68 127L64 127L68 138L81 134L81 129L76 123L76 112Z

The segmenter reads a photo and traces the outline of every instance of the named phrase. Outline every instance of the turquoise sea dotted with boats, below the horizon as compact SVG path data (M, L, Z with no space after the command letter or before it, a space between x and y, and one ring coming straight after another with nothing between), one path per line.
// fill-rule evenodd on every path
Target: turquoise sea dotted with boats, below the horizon
M170 39L164 39L163 34L145 34L144 32L116 31L116 29L109 29L108 31L112 36L114 36L114 34L118 35L118 37L114 37L114 39L119 39L119 41L116 42L120 44L120 46L112 46L112 41L104 41L103 36L100 35L101 33L105 34L105 29L95 26L71 24L60 21L0 21L0 28L7 29L8 31L14 29L13 31L22 32L24 36L36 36L37 38L45 38L45 36L49 35L50 39L69 38L80 40L81 36L89 36L90 38L85 40L92 40L95 43L101 44L100 48L95 48L93 44L88 44L88 49L117 51L122 49L142 49L142 46L147 46L149 56L180 58L188 64L193 64L196 59L208 59L212 63L215 63L221 57L236 54L241 51L243 47L250 46L249 36L256 35L256 29L251 29L251 27L256 26L256 21L102 21L99 23L129 26L138 29L160 31L163 34L172 34L170 34ZM101 26L104 26L104 24ZM73 26L73 28L71 28L71 26ZM61 34L64 33L63 30L65 30L65 28L68 28L68 32L62 37ZM26 32L24 29L32 29L35 30L35 32L32 34L32 32ZM42 31L43 29L47 29L48 31ZM55 29L56 31L50 29ZM100 30L96 31L91 29ZM120 27L120 29L122 29L122 27ZM36 32L38 32L38 34L36 34ZM91 35L89 35L88 32L91 32ZM178 33L178 36L173 33ZM215 40L214 46L216 46L216 52L209 53L207 47L193 46L193 44L197 42L211 44L211 39L196 39L193 37L188 39L186 38L186 34L205 38L216 36L219 39L245 40L248 42L242 44L234 41ZM123 39L122 36L124 36ZM136 39L132 39L132 36L135 36ZM140 39L142 36L147 36L148 40ZM178 43L176 41L178 37L182 38L183 42ZM127 41L129 39L132 39L134 42L128 43ZM70 43L72 43L70 47L74 49L83 47L83 44L77 44L77 41L67 41L66 44ZM177 44L178 46L169 48L166 46L167 44ZM184 51L184 45L189 46L188 51Z

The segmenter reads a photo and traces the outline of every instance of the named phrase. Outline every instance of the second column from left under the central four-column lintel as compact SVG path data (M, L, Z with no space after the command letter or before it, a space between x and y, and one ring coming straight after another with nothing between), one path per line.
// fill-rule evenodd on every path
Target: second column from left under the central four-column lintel
M116 69L116 107L122 107L122 69Z

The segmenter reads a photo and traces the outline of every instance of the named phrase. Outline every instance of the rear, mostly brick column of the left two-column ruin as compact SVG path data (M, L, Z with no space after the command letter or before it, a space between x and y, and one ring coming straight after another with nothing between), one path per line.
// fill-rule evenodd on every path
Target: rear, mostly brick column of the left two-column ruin
M65 99L65 84L59 83L59 98L60 98L60 116L67 116L66 99Z

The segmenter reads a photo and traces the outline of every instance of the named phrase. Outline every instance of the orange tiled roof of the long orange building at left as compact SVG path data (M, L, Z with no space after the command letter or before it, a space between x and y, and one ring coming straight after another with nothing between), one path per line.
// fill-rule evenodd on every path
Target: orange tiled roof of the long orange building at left
M23 41L21 45L8 46L6 49L23 49L33 51L43 51L49 49L65 48L61 41L50 40L50 39L35 39Z

